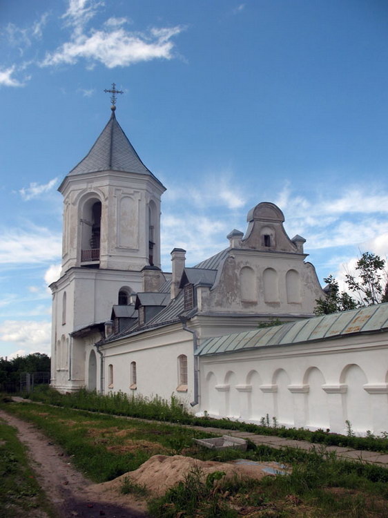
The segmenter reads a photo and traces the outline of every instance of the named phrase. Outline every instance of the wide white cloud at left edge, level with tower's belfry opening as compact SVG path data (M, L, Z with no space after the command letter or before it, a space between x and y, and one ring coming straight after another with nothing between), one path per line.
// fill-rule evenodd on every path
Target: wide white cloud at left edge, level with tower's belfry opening
M0 264L31 265L61 256L61 234L41 227L0 231Z

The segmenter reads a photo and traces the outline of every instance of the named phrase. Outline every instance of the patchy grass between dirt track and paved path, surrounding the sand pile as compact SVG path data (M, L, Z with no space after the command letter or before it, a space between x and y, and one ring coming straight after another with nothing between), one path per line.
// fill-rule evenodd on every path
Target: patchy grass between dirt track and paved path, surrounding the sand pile
M158 499L151 499L143 486L125 477L122 492L148 499L149 512L155 517L387 516L388 470L338 459L322 446L307 452L293 448L274 450L249 443L246 452L213 451L193 444L192 438L204 437L203 432L179 425L114 418L35 403L7 403L3 407L38 425L66 450L75 466L97 482L135 470L157 453L180 453L220 462L237 458L278 461L292 467L290 475L264 477L261 481L226 480L222 470L204 479L197 470L188 473L185 481Z

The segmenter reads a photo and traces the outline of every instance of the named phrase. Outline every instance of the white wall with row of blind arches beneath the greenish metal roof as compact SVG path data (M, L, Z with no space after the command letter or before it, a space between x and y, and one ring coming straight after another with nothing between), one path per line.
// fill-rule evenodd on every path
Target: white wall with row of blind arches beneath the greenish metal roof
M356 434L388 430L388 333L200 357L200 413ZM238 407L235 394L239 394Z

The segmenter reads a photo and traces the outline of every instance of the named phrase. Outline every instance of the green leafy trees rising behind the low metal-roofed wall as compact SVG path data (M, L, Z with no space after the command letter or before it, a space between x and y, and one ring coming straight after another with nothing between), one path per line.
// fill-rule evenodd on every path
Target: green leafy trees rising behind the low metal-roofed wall
M356 272L356 275L346 274L347 287L353 292L354 297L347 291L340 292L338 281L332 275L324 279L324 282L327 282L327 297L316 300L316 315L388 302L384 259L374 253L364 252L357 261Z

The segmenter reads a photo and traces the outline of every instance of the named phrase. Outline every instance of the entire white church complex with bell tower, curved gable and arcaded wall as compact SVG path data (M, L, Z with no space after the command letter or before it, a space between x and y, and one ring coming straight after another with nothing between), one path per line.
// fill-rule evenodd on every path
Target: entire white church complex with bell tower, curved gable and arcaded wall
M197 415L357 434L388 430L388 305L314 316L325 296L271 202L194 267L160 266L164 185L113 105L59 186L60 278L52 290L51 386L176 396ZM273 325L273 322L282 325ZM261 325L260 325L261 324Z

